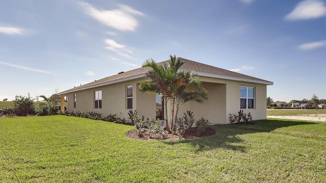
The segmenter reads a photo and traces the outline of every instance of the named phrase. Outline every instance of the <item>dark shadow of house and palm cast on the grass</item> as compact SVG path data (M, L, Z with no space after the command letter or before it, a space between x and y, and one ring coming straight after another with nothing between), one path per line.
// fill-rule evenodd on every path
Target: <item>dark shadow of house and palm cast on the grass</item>
M243 140L238 137L242 134L270 132L278 128L291 127L297 125L313 125L316 123L306 121L294 121L287 119L274 119L274 120L257 120L255 124L251 125L214 125L212 126L216 133L215 135L202 137L198 139L184 139L178 141L165 141L169 145L187 143L194 147L194 151L203 151L215 148L224 148L235 151L246 152L247 146L239 144Z

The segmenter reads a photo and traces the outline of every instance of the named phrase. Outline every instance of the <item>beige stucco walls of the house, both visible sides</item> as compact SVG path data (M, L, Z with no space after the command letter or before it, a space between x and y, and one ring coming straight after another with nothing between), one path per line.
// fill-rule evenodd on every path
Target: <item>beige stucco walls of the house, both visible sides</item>
M200 77L206 88L209 99L203 103L185 103L179 111L182 117L186 110L194 112L196 120L204 117L210 124L228 124L229 114L236 114L240 110L240 86L255 87L255 109L246 109L251 112L253 120L266 119L266 85ZM68 96L68 111L97 111L102 117L116 114L118 117L128 118L126 109L126 86L133 85L133 110L137 109L140 116L155 118L155 94L139 93L139 84L144 79L130 80L111 85L85 89ZM102 90L102 109L94 109L94 91ZM73 95L76 94L76 108L73 108ZM168 118L171 119L171 105L168 106Z

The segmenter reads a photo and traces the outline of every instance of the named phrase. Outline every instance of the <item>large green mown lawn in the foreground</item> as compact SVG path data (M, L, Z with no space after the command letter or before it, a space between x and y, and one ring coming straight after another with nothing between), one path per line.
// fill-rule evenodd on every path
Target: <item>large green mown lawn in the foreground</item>
M0 182L326 182L326 123L256 122L142 141L100 120L0 118Z

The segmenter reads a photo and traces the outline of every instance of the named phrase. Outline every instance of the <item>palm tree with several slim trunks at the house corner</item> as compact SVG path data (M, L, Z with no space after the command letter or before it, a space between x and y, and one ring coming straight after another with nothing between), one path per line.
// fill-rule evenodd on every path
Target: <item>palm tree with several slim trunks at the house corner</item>
M188 101L203 102L207 99L207 91L202 87L197 75L191 71L182 70L184 64L175 55L170 55L169 65L158 65L153 59L146 60L143 67L151 67L146 73L147 81L142 82L140 92L155 93L165 100L165 111L168 101L172 100L171 124L169 126L168 113L166 112L166 128L174 130L174 120L177 119L179 107ZM185 92L187 86L195 86L195 90ZM176 107L176 111L175 111Z

